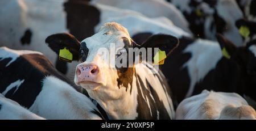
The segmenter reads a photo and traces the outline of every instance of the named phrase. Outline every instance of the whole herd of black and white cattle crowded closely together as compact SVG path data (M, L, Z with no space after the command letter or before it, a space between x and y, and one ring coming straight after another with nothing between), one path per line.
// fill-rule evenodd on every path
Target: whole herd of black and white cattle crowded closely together
M255 0L0 6L0 119L256 119ZM167 58L109 66L113 44Z

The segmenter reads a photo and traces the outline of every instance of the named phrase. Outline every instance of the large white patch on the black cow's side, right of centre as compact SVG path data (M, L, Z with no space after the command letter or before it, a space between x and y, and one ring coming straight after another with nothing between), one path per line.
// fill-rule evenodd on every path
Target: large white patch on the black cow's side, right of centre
M208 40L197 40L188 45L184 53L191 53L191 58L182 66L188 67L191 79L186 97L191 96L196 85L207 73L214 69L222 53L218 43Z

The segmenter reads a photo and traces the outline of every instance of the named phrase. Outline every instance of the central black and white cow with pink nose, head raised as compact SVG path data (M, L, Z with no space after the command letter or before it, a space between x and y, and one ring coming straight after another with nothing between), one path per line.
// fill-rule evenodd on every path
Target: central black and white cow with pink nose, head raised
M136 47L159 48L169 54L179 44L176 37L155 35L139 46L131 40L126 28L117 23L106 23L100 32L81 43L67 33L51 35L46 43L57 54L60 49L69 49L73 60L80 61L75 83L85 88L110 118L174 119L170 87L160 71L145 61L119 67L116 63L110 64L108 58L115 62ZM97 53L101 49L110 52ZM134 57L138 58L138 55ZM125 64L127 60L122 59L122 62Z

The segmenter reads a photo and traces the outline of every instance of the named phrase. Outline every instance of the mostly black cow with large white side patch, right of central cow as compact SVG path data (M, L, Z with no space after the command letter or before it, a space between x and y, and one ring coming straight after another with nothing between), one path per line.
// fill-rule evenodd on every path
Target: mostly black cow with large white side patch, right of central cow
M181 38L179 47L167 58L162 71L176 99L181 102L207 89L237 92L255 106L256 41L237 48L225 37L217 38L219 44Z

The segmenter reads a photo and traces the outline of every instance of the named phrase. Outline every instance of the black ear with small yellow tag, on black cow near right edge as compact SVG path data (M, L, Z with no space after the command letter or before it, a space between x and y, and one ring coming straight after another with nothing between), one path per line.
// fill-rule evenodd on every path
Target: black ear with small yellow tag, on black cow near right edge
M237 52L236 46L226 39L224 36L222 36L220 33L216 34L218 44L220 44L222 55L228 59L232 58L234 53Z

